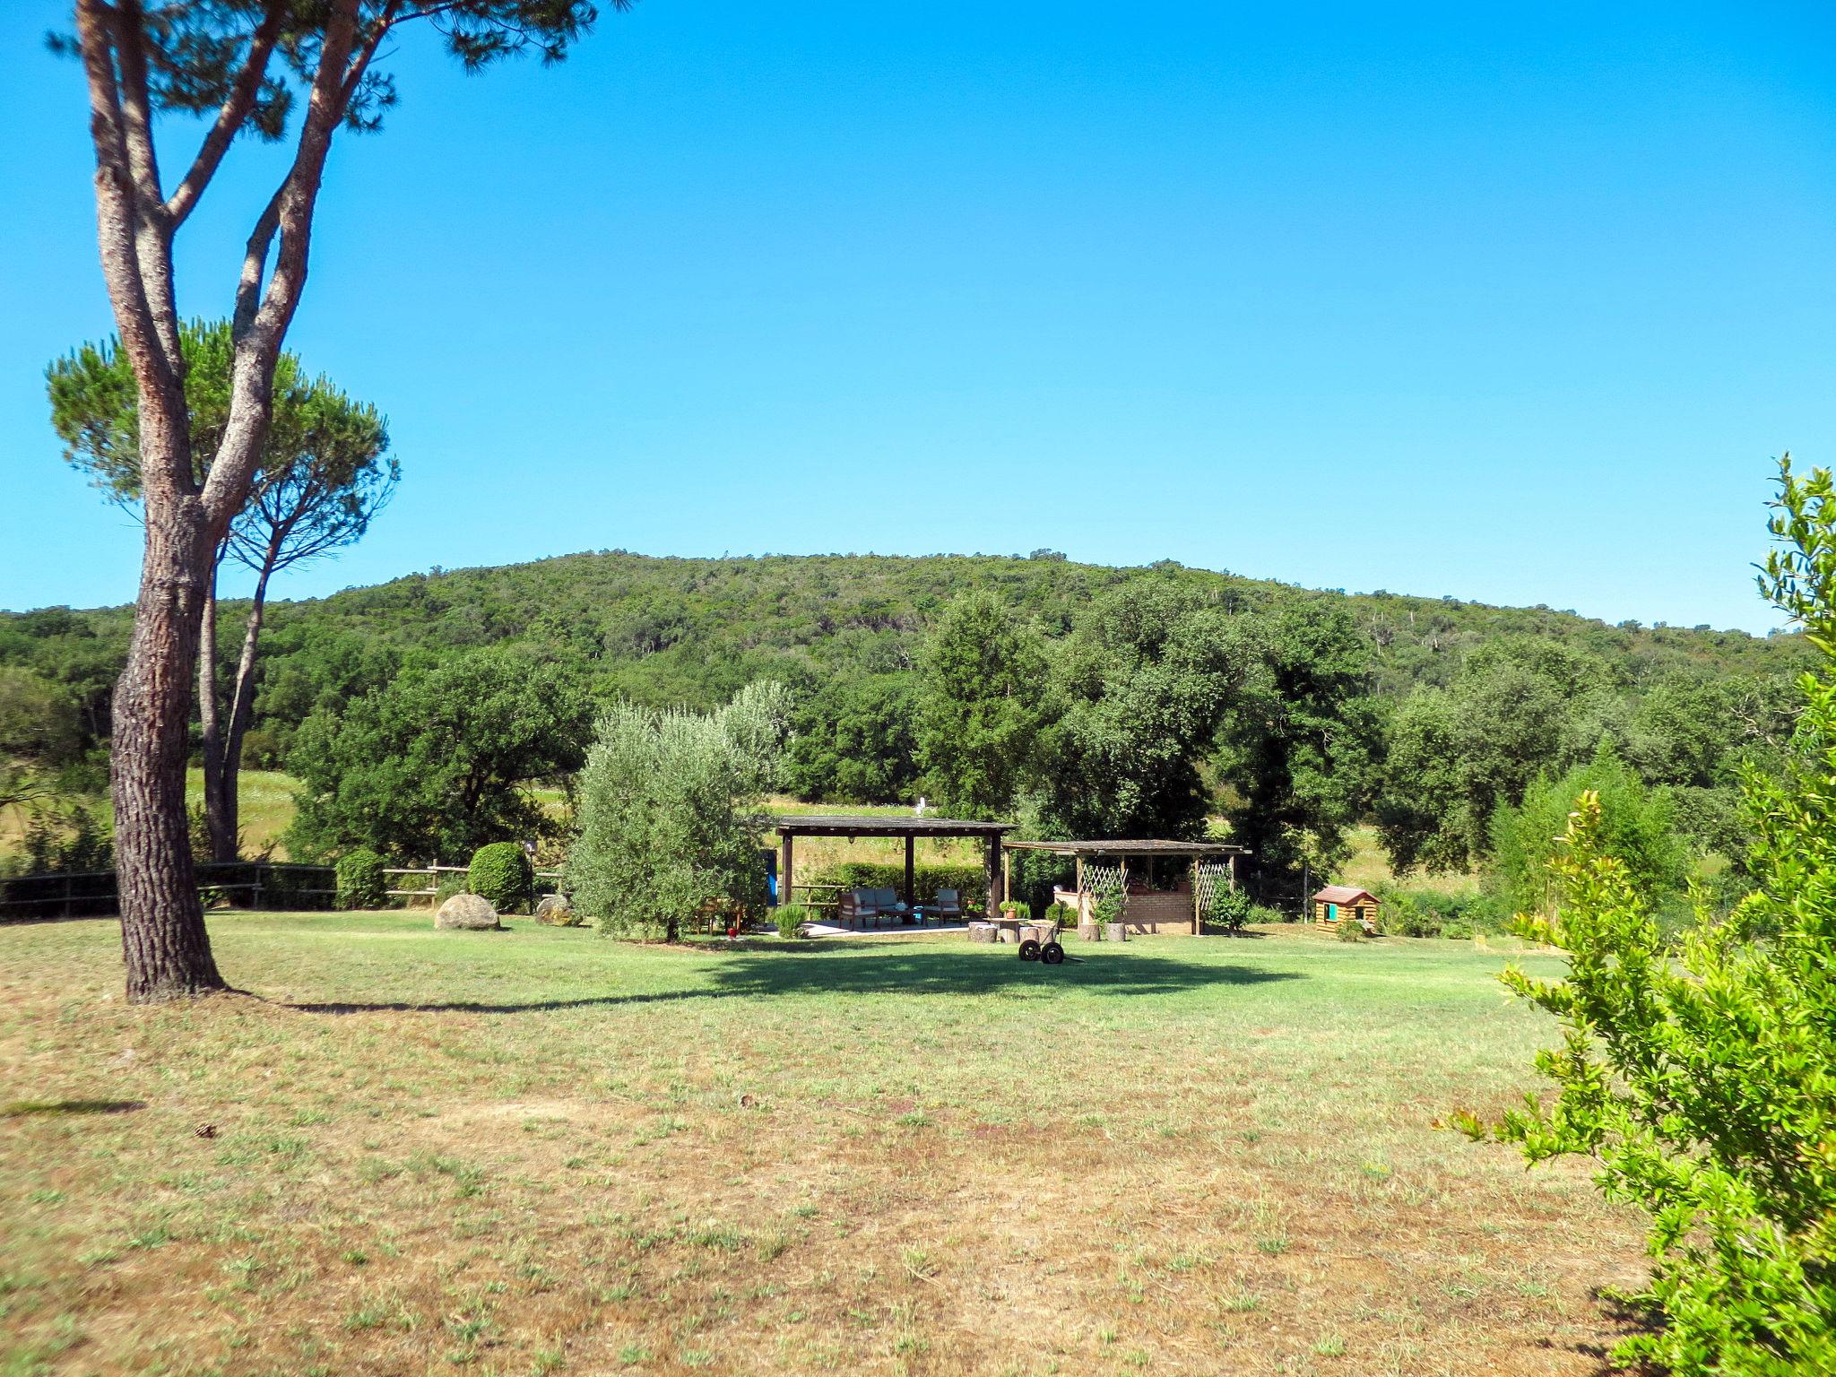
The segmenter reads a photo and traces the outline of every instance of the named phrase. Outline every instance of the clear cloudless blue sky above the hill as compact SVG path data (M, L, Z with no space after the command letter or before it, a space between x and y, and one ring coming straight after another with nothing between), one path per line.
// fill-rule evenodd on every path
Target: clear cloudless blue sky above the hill
M0 6L6 608L138 564L44 419L110 329L62 9ZM404 485L281 597L1050 545L1764 630L1772 455L1836 461L1821 6L643 0L476 79L428 39L290 340ZM187 314L274 173L237 158Z

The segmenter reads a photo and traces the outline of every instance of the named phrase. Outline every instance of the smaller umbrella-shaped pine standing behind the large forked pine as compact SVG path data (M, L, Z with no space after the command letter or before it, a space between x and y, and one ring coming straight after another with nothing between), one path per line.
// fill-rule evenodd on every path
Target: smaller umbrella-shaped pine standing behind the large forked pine
M204 483L228 420L235 340L230 321L187 321L178 341L185 354L191 461L196 481ZM86 343L59 358L46 369L46 384L51 428L64 441L64 457L110 501L138 512L143 487L140 408L134 371L119 341ZM274 417L261 463L204 584L198 727L213 861L233 861L239 850L237 777L255 707L255 655L268 582L281 569L362 540L398 479L400 465L389 457L389 428L376 408L353 400L323 375L308 378L299 360L283 353L274 369ZM217 663L217 573L226 558L255 575L228 700Z

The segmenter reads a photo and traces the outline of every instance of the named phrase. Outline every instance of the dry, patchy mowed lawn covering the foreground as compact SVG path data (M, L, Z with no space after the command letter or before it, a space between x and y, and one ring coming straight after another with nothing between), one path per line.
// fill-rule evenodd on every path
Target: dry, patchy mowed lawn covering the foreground
M1434 1127L1551 1034L1472 944L211 929L0 929L4 1373L1597 1373L1641 1276Z

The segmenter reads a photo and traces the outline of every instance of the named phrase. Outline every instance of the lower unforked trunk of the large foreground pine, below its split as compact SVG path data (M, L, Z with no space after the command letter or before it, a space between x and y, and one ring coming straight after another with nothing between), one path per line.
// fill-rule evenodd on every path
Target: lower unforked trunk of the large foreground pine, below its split
M211 569L195 496L147 510L147 553L127 668L114 698L121 955L134 1004L224 990L204 931L185 823L185 736Z

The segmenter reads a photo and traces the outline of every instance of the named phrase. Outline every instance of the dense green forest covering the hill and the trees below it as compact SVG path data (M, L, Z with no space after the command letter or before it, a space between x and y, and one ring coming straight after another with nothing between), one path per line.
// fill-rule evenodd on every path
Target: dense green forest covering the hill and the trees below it
M0 756L15 791L28 775L55 784L40 799L99 788L130 615L0 615ZM226 666L242 615L222 604ZM527 823L492 797L564 782L599 707L711 709L778 679L797 703L788 788L804 797L929 791L1037 830L1113 835L1190 834L1221 815L1280 872L1329 865L1357 821L1377 823L1399 870L1467 868L1491 854L1500 806L1603 749L1665 791L1698 848L1737 854L1739 760L1783 749L1788 685L1810 659L1796 635L1610 626L1052 551L567 554L277 602L268 626L244 764L292 769L321 797L375 766L380 797L437 762L442 788L477 808L389 834L353 802L349 815L371 819L365 841L461 845ZM477 762L466 729L439 722L461 701L492 705L488 731L505 738ZM540 740L518 736L531 720ZM501 758L487 758L494 745ZM353 826L321 810L299 837L332 852L354 845Z

